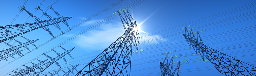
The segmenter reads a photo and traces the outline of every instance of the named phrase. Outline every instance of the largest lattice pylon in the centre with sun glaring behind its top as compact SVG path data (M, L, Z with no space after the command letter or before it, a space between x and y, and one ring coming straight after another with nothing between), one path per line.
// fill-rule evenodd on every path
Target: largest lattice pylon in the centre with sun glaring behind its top
M106 73L106 76L130 76L132 47L137 47L138 29L136 21L127 11L122 11L124 17L117 11L121 21L128 26L124 34L112 43L107 49L100 53L95 59L89 62L81 71L75 76L101 76ZM125 28L123 23L123 27ZM135 40L135 42L133 41ZM109 67L109 69L107 69Z

